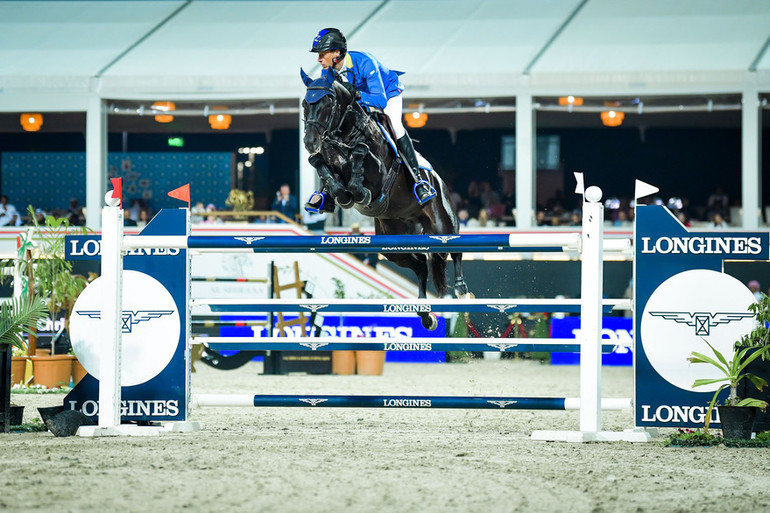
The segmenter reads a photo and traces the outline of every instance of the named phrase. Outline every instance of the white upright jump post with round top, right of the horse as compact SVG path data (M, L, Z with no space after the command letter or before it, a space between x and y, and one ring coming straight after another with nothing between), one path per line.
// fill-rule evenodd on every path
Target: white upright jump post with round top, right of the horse
M580 276L580 431L601 430L601 333L603 292L602 191L589 187L583 197L583 251Z

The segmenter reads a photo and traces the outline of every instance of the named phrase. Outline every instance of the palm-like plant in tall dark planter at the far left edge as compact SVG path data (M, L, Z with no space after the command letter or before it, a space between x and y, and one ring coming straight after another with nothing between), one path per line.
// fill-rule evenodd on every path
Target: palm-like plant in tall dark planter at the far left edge
M46 318L46 306L39 298L13 298L0 305L0 423L3 431L11 425L11 357L13 349L24 351L24 333L32 334ZM14 405L15 406L15 405ZM18 423L15 422L14 423Z

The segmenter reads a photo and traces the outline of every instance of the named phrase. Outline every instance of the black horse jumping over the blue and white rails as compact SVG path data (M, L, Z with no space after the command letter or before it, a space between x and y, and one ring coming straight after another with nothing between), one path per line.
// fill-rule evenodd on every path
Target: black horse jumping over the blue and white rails
M459 231L446 184L425 164L436 197L420 205L412 192L412 179L398 157L383 125L356 102L331 74L312 80L304 71L307 94L302 102L305 116L305 148L326 191L343 208L353 207L374 218L380 235L448 235ZM381 116L383 122L387 117ZM446 253L385 253L391 262L414 271L419 297L426 297L428 269L440 297L447 294ZM430 260L430 266L428 265ZM455 294L468 294L462 274L462 253L452 253ZM435 316L420 314L422 325L435 329Z

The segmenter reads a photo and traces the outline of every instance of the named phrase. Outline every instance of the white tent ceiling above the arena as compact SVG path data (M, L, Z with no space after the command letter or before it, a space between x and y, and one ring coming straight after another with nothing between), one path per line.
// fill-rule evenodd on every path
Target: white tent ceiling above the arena
M0 111L299 98L326 26L407 98L770 91L767 0L28 0L0 2Z

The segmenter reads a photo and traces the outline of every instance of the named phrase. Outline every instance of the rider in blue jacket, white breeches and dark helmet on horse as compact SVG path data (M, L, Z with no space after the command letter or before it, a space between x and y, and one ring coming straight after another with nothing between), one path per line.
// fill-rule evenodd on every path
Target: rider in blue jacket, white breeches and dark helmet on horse
M436 189L428 182L427 177L421 175L414 145L401 121L403 111L401 93L404 87L399 80L399 75L403 72L386 68L373 55L366 52L348 52L345 36L336 28L325 28L318 32L313 39L313 47L310 51L318 54L323 75L336 71L342 77L342 84L350 91L353 98L366 106L382 109L388 116L396 133L398 149L414 180L414 195L418 203L422 205L434 198ZM317 211L323 203L326 203L323 198L314 195L305 204L305 209Z

